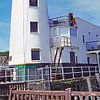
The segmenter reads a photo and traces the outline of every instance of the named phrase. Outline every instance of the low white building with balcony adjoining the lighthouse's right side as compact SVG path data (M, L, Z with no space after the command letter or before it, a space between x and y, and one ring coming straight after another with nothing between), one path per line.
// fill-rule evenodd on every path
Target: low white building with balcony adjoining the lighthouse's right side
M80 18L75 21L75 26L70 26L67 16L50 19L53 61L57 47L64 47L61 63L99 63L100 27Z

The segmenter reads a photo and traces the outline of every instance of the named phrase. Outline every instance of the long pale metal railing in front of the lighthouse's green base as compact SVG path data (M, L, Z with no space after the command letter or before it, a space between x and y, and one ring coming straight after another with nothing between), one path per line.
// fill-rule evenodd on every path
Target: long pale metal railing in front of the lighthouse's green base
M22 70L22 69L21 69ZM24 70L26 71L25 73ZM60 67L41 67L31 69L9 68L3 69L0 75L1 82L36 82L36 81L52 81L75 79L80 77L91 77L99 73L99 68L96 65L80 65L80 66L60 66Z

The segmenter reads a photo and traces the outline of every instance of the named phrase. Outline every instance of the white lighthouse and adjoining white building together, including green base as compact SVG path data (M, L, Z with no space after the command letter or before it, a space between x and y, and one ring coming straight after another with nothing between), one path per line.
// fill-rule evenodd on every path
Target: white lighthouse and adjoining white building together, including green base
M58 72L61 79L92 76L100 65L99 36L99 26L72 13L49 20L46 0L13 0L9 65L22 81L47 79L44 74L52 79Z

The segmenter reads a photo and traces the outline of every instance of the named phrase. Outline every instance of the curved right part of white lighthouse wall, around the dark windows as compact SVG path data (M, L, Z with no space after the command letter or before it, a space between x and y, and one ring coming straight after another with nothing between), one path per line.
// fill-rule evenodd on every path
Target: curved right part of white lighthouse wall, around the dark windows
M31 61L31 49L40 48L41 60L39 63L50 62L50 46L49 37L50 30L48 25L48 13L46 0L39 0L39 7L28 7L28 30L26 33L26 62L32 63ZM39 23L38 33L30 33L30 21L36 21ZM27 21L25 21L27 22ZM35 61L33 61L34 63Z

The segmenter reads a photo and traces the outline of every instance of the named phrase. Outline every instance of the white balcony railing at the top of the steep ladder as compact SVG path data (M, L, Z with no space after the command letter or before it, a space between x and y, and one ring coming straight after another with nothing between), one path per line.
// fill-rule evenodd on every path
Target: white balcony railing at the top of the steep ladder
M50 47L64 47L64 46L71 46L70 38L59 36L50 38Z

